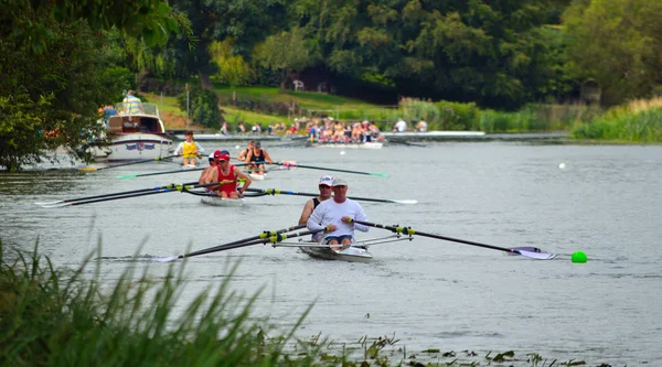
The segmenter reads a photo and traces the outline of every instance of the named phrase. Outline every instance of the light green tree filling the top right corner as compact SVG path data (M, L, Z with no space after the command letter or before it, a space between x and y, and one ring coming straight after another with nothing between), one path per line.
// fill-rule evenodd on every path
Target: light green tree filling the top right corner
M595 79L602 104L650 96L662 84L662 2L576 1L564 14L577 78Z

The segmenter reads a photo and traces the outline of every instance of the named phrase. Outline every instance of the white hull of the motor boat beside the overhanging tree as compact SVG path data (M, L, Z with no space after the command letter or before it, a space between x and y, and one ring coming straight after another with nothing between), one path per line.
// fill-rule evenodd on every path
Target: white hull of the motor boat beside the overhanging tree
M109 162L150 160L168 156L173 151L172 140L156 133L121 133L113 137Z

